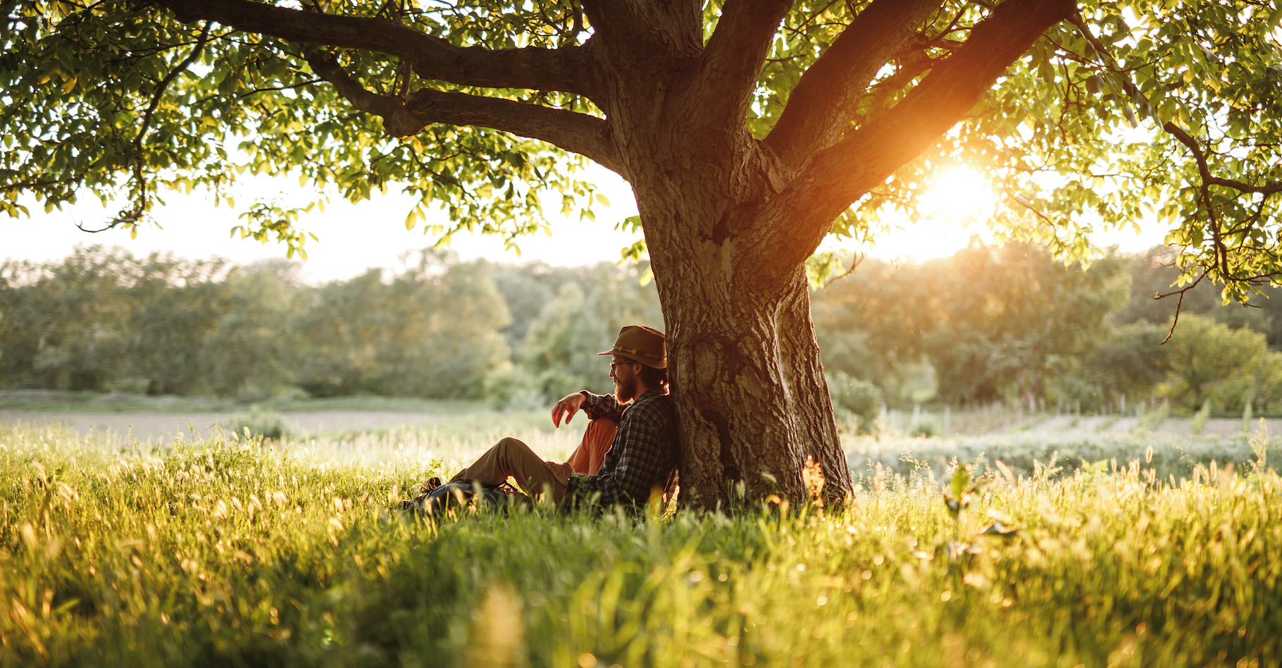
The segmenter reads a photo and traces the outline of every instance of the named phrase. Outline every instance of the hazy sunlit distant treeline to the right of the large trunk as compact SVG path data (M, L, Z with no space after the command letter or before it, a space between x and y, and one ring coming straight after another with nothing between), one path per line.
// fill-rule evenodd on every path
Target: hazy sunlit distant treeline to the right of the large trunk
M1110 255L1088 269L1046 249L972 245L922 264L868 260L813 297L838 405L1018 403L1027 410L1176 412L1282 408L1282 300L1223 305L1203 283L1185 295L1170 249Z

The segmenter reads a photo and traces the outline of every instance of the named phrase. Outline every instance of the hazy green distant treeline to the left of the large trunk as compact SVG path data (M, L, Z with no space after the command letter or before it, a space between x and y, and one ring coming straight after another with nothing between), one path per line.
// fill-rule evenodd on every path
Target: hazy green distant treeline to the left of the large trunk
M81 247L0 264L0 387L218 395L358 392L535 403L610 386L595 353L632 322L662 327L644 267L459 262L303 285L245 267Z

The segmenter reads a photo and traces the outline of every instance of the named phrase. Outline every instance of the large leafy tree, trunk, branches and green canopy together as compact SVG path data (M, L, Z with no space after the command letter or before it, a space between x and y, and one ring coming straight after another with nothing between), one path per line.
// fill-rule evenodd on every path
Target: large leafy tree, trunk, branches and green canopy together
M238 169L351 200L397 185L513 237L573 208L582 156L627 180L701 504L847 492L805 265L985 169L996 224L1087 253L1091 224L1176 221L1186 280L1278 272L1282 76L1265 3L1070 0L103 0L4 3L0 205L226 195ZM1141 131L1128 131L1141 126ZM1142 129L1147 128L1147 132ZM238 149L238 150L237 150ZM304 236L286 204L245 235ZM426 219L426 218L424 218ZM641 249L635 249L640 251Z

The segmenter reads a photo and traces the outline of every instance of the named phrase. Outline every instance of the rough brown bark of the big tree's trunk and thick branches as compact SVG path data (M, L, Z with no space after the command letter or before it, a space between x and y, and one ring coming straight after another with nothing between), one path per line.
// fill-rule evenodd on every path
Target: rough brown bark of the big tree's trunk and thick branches
M697 0L583 0L594 35L563 49L460 49L382 19L246 0L162 0L306 45L369 49L427 79L570 91L604 118L429 87L401 100L362 87L323 54L313 69L394 135L432 123L541 138L623 176L636 194L668 327L685 446L683 497L701 506L804 496L806 458L826 495L850 492L810 321L804 262L833 219L960 121L1069 0L1006 0L903 101L851 129L855 101L941 0L874 0L801 77L764 140L746 127L762 64L790 0L727 0L703 40Z

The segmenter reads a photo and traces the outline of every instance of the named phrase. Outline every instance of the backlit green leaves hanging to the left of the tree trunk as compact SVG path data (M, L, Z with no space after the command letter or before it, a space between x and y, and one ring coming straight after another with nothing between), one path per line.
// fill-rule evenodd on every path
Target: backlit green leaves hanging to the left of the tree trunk
M291 201L253 203L233 233L285 242L292 255L306 240L294 230L294 218L300 210L323 210L336 196L362 201L400 190L418 200L408 228L431 215L426 232L447 238L459 230L483 231L509 245L546 227L545 201L573 210L591 196L591 186L570 176L582 162L540 142L455 126L387 136L376 117L318 85L297 44L214 23L183 24L124 0L83 6L10 1L5 9L0 210L10 215L28 213L27 195L46 210L91 195L121 206L104 224L136 233L144 222L163 222L150 215L163 192L200 188L215 203L235 205L236 185L246 177L288 177L306 191ZM569 3L510 10L503 3L344 6L353 15L397 18L486 47L572 38ZM376 91L465 91L417 79L405 63L382 54L336 55ZM517 99L523 91L496 95ZM550 95L532 104L585 103ZM436 222L437 210L447 223Z

